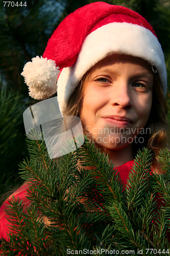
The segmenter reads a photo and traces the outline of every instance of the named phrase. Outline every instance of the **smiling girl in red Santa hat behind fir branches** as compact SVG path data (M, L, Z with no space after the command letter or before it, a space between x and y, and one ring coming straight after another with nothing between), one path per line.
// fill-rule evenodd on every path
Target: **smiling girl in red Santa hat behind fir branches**
M153 28L138 13L104 2L76 10L22 75L35 99L57 91L63 117L80 117L84 133L109 155L125 183L142 147L153 153L153 171L161 172L158 155L168 126L166 67ZM26 205L27 188L24 184L12 195ZM5 239L10 232L6 203L0 210Z

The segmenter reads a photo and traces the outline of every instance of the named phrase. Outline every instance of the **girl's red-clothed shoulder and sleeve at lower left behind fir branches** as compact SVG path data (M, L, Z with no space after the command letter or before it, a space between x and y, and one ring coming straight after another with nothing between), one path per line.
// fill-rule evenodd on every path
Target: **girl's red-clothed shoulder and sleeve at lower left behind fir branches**
M10 200L13 199L19 199L23 201L23 205L29 206L30 201L27 198L27 189L29 188L29 183L24 183L21 185L14 193L12 193L1 205L0 207L0 239L8 239L8 234L10 232L10 222L7 220L7 214L6 214L6 209L8 205L10 204ZM8 216L9 217L9 216Z

